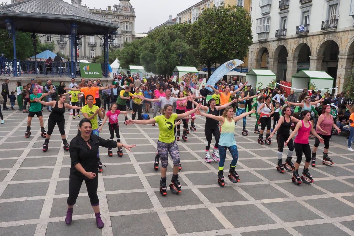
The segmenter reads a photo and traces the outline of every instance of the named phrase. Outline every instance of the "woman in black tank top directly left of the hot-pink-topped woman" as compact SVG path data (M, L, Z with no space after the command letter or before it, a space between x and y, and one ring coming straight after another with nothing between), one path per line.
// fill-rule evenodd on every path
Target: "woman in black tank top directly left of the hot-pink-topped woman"
M287 171L293 171L295 167L294 164L291 162L292 153L294 151L294 143L292 142L292 139L290 139L289 143L287 144L289 151L285 160L286 164L284 165L282 163L282 154L284 150L284 143L290 136L291 123L297 123L300 121L295 117L291 116L291 107L289 106L283 108L282 114L283 115L280 117L277 126L273 130L272 134L270 134L269 136L270 138L272 138L273 134L278 131L276 133L276 141L278 143L278 166L276 167L276 169L280 173L284 173L284 168Z

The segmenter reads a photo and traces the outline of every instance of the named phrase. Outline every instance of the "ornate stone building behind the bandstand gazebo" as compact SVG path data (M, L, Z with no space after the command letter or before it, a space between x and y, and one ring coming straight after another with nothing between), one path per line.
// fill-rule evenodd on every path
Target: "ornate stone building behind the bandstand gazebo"
M21 0L12 0L11 3ZM119 25L116 38L110 45L113 48L121 48L124 42L130 42L135 39L135 9L130 3L130 0L119 0L119 4L107 6L107 9L101 8L89 8L89 6L82 5L82 0L71 0L71 4L95 14L102 19ZM70 55L70 40L68 35L39 35L40 39L44 38L42 42L55 44L56 51L63 53L64 55ZM103 41L101 35L85 36L80 39L78 51L76 52L78 59L86 59L91 61L95 56L103 55Z

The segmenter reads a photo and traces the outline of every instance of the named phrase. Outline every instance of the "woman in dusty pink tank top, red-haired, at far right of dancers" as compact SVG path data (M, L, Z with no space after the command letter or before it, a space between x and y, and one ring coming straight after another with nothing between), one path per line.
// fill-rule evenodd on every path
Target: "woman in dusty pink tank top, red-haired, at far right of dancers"
M331 106L324 105L322 108L322 115L320 115L320 117L318 118L317 125L316 125L316 133L320 137L322 137L325 142L322 164L326 166L333 165L333 160L328 157L328 149L330 147L330 137L331 137L332 127L337 129L338 133L341 132L341 130L334 123L333 116L330 113L331 113ZM311 164L313 167L316 166L316 151L319 145L320 145L320 140L316 138L315 144L313 145L312 157L311 157Z

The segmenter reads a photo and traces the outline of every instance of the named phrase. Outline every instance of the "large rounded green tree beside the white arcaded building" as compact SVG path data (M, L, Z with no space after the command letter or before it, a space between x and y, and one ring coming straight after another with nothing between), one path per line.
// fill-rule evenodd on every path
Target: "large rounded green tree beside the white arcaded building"
M244 8L228 5L204 10L185 35L210 76L212 64L247 56L252 45L251 27L251 17Z

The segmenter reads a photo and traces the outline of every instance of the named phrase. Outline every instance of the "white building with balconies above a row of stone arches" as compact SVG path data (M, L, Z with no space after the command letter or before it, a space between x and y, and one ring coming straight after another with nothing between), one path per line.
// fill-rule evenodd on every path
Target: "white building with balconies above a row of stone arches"
M354 0L253 0L251 8L249 70L288 81L302 69L323 70L341 89L353 69Z

